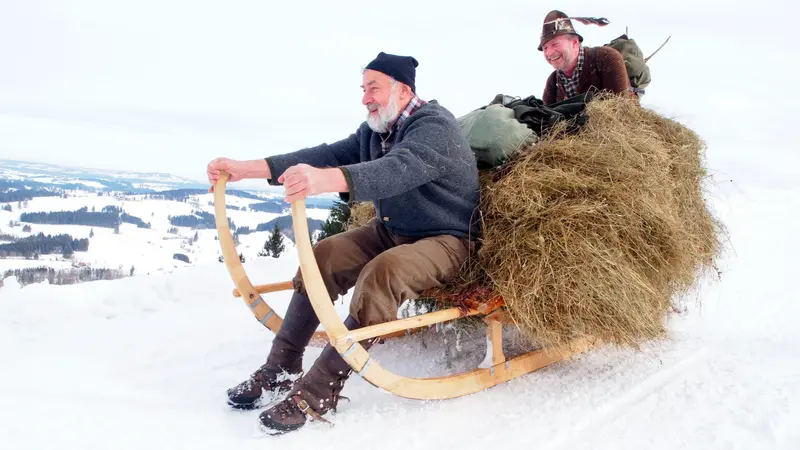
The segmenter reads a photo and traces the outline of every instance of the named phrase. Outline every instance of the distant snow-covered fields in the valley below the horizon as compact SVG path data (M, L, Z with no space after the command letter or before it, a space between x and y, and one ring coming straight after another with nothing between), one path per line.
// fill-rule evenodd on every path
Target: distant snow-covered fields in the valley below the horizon
M172 225L169 216L189 215L193 210L200 210L213 214L213 194L193 196L194 202L179 202L170 200L146 199L137 196L97 196L95 193L71 191L70 197L37 197L26 202L27 206L18 208L18 202L10 205L13 211L0 210L0 234L11 234L17 237L30 236L31 234L62 234L66 233L75 239L90 238L89 251L76 252L70 261L64 261L60 255L41 255L38 261L24 259L0 259L0 274L6 270L22 269L28 267L49 266L54 268L69 267L73 263L85 263L96 268L121 269L129 273L131 266L135 268L134 274L146 275L156 272L170 272L186 263L173 259L175 253L183 253L189 257L192 264L217 262L221 255L216 229L192 230L188 227L177 227L178 234L169 233ZM246 199L238 196L227 195L226 204L237 207L248 206L263 200ZM138 228L136 225L123 223L120 233L115 234L111 228L91 227L82 225L42 225L30 224L31 231L23 232L22 226L10 227L10 221L18 221L21 213L48 212L48 211L75 211L87 207L89 211L102 211L106 206L117 206L126 213L149 222L150 229ZM288 214L289 205L286 204ZM309 209L310 218L325 220L329 210ZM260 211L227 210L227 216L238 227L255 229L258 224L268 222L280 215ZM24 225L21 224L21 225ZM198 234L198 241L187 245L187 240ZM242 235L241 245L238 247L245 259L256 258L264 247L264 242L269 237L269 232L257 232ZM287 248L292 248L292 243L287 240Z

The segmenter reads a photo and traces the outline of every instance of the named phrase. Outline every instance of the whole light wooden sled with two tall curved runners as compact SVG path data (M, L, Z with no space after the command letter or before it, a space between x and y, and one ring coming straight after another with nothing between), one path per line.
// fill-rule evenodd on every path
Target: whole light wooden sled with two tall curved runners
M291 282L253 286L239 261L228 226L225 208L225 185L228 174L223 172L214 191L214 207L220 246L225 265L236 285L235 297L244 299L256 319L273 333L280 329L283 319L264 301L261 294L292 289ZM503 301L497 295L488 301L468 301L463 308L449 308L428 314L399 319L357 330L348 330L334 309L328 291L322 281L319 267L309 239L305 201L292 203L292 220L300 270L314 312L325 331L317 332L318 338L327 338L353 371L374 386L405 398L428 400L448 399L479 392L511 379L541 369L582 353L592 346L587 339L576 339L560 347L544 348L506 359L502 347ZM487 358L491 366L477 368L465 373L436 378L411 378L386 370L359 343L380 337L405 335L410 330L448 322L467 316L481 316L487 324ZM323 337L324 335L324 337Z

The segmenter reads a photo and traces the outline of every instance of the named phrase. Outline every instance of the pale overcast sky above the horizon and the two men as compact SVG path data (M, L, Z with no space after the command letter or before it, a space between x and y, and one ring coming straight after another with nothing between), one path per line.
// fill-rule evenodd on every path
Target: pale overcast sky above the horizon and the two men
M797 2L0 0L0 159L205 179L217 156L332 142L364 120L361 68L419 60L418 93L456 116L498 93L541 97L551 9L584 44L625 32L643 104L693 128L723 179L793 183ZM746 5L745 8L743 5Z

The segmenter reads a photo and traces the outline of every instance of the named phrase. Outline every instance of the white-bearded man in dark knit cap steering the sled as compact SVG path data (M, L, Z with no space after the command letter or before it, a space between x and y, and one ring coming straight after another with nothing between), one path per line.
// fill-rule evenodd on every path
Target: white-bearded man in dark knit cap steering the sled
M354 288L344 322L351 330L395 320L403 301L456 276L479 232L475 157L453 114L417 96L417 66L413 57L379 53L363 71L367 120L343 140L261 160L208 164L212 189L225 170L231 181L282 184L287 202L335 192L345 201L374 204L376 217L367 225L314 248L331 299ZM299 270L293 285L266 363L227 392L229 405L244 409L285 396L259 416L269 434L296 430L335 408L351 373L330 344L303 373L303 351L320 322ZM369 348L372 342L361 344Z

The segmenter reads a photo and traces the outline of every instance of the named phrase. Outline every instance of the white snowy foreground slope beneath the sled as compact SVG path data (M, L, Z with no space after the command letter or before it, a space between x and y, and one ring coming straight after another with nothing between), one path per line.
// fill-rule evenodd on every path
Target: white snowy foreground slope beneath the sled
M333 428L277 438L258 431L258 411L225 405L225 389L263 362L272 335L231 296L224 266L72 286L7 283L0 448L797 449L799 194L718 195L732 238L722 279L704 287L702 307L671 319L664 342L600 348L446 401L402 399L355 376ZM263 283L290 278L296 263L289 252L245 267ZM268 297L279 312L288 298ZM374 354L402 374L446 372L441 336L425 335L426 348L422 339ZM482 342L465 345L454 366L478 364ZM306 367L318 353L309 349Z

